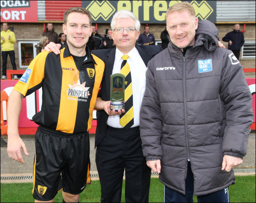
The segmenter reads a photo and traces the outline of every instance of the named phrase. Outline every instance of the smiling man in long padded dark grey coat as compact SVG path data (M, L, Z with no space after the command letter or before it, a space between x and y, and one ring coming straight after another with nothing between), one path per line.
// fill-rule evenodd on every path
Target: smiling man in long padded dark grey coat
M193 193L198 202L228 202L253 121L243 69L189 3L170 7L166 25L168 48L147 66L143 155L165 185L165 202L192 202Z

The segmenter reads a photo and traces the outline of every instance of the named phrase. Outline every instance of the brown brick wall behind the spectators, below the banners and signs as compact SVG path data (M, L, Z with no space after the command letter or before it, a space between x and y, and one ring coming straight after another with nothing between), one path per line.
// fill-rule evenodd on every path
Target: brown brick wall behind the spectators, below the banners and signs
M141 24L140 33L144 32L144 26L146 24ZM46 26L46 25L45 25ZM53 23L56 33L62 33L62 23ZM161 32L165 29L165 24L149 24L150 32L154 34L156 40L161 40L160 35ZM241 30L243 30L243 24L240 25ZM14 28L14 33L17 39L38 39L41 37L43 31L43 23L11 23L10 27ZM226 35L226 33L233 30L233 24L217 24L217 28L219 30L219 39L222 40L222 37ZM98 32L104 37L105 30L110 29L110 24L98 24ZM255 39L255 24L246 24L245 27L245 39ZM227 42L223 42L223 44L227 47ZM18 43L14 44L15 51L15 62L16 66L19 69L19 57L18 57ZM1 57L1 75L2 75L2 57ZM255 68L255 59L253 60L240 60L240 63L245 68ZM8 57L7 61L7 69L12 69L11 61Z

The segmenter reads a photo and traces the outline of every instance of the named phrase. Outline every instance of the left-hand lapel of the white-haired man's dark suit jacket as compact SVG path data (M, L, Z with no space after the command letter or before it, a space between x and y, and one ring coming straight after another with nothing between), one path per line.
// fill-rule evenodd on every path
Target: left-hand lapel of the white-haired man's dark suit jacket
M105 82L107 96L110 99L110 76L113 72L114 62L116 56L116 48L113 48L107 55L105 60Z

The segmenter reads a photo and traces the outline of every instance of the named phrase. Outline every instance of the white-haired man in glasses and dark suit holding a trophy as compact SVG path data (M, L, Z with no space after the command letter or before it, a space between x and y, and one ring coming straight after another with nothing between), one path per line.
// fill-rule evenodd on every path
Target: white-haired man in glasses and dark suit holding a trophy
M98 111L95 136L96 164L102 186L102 202L120 202L125 170L126 202L148 202L151 169L142 153L139 134L139 111L145 90L145 72L148 61L162 51L159 46L135 46L140 23L130 11L118 11L112 19L110 32L117 48L94 50L94 55L105 62L105 77L95 109ZM122 73L123 55L128 55L132 78L132 99L126 99L127 109L132 104L133 115L124 127L120 115L110 111L110 75ZM125 79L126 81L127 79ZM126 94L126 93L125 93ZM129 107L128 107L129 108ZM120 111L119 111L120 114ZM111 116L113 115L113 116Z

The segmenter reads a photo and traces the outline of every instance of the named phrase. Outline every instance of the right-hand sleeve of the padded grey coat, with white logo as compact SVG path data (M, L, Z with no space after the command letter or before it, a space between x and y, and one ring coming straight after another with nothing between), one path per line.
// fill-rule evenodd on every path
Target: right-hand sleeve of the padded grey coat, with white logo
M232 56L233 52L227 50L222 66L220 98L226 110L222 151L224 155L243 158L246 155L250 125L254 117L252 94L241 64Z

